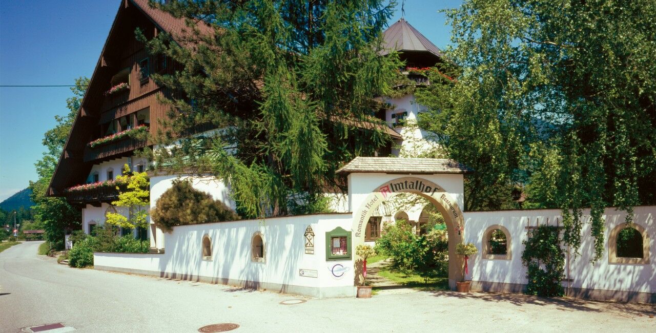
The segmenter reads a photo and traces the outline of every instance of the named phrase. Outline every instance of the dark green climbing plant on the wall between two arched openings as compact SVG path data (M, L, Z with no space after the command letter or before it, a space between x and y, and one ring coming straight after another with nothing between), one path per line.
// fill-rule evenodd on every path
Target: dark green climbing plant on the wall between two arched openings
M528 232L523 241L522 263L528 268L526 293L537 296L563 296L565 256L560 248L558 227L541 225Z

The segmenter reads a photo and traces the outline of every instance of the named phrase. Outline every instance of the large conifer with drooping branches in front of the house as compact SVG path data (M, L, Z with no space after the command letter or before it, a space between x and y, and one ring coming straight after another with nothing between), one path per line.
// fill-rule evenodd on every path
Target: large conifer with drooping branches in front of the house
M181 92L167 98L172 121L159 142L200 125L222 128L213 140L188 138L179 149L157 151L157 164L227 180L242 216L283 215L299 205L325 209L317 205L325 202L322 193L344 187L335 170L390 140L373 115L382 108L375 96L392 94L400 66L396 54L379 56L394 3L151 4L194 27L184 38L173 36L180 43L165 34L148 41L151 52L180 64L174 75L155 75Z

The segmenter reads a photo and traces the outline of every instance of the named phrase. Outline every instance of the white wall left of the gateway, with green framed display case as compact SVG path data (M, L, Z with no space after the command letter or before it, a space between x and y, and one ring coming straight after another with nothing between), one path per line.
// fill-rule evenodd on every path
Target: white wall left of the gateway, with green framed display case
M281 291L302 292L302 287L323 288L324 294L317 296L352 296L352 262L327 261L325 258L325 233L338 226L348 230L351 224L351 214L319 214L182 225L174 227L173 232L166 235L164 254L96 253L94 265L133 269L142 273L152 271L156 275L164 272L176 278L210 277L216 278L213 282L218 283L249 281L279 284ZM308 225L314 229L314 254L305 253L304 233ZM251 260L251 239L256 231L264 239L265 262ZM202 239L206 234L211 237L211 260L202 258ZM331 272L336 264L346 267L346 272L339 278ZM314 270L318 277L300 276L300 269Z

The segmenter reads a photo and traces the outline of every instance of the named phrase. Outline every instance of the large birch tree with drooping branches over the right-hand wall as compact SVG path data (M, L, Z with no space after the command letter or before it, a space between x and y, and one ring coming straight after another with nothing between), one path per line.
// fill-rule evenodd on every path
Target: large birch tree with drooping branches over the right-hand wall
M562 208L575 249L591 207L600 259L604 208L630 221L656 202L656 2L468 0L447 16L459 73L422 96L424 123L462 162L486 163L483 183L525 171L529 200Z

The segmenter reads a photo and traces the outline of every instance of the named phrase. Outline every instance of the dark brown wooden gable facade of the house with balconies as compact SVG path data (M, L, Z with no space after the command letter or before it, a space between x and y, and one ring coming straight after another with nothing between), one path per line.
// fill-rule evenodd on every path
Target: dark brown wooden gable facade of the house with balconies
M158 96L165 92L150 75L173 73L174 66L163 56L149 55L136 40L135 29L150 39L162 31L175 35L182 27L184 20L148 7L148 0L120 2L48 195L65 196L72 203L83 203L79 196L87 194L95 195L92 200L96 200L102 193L76 193L78 197L75 197L64 189L85 184L93 165L133 155L135 149L152 144L151 140L125 137L94 147L89 145L93 140L137 125L148 126L151 136L162 130L159 120L167 116L171 107L158 102ZM142 68L147 69L147 75L142 73ZM128 83L129 89L106 94L113 85L122 82ZM105 194L110 200L112 195Z

